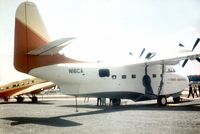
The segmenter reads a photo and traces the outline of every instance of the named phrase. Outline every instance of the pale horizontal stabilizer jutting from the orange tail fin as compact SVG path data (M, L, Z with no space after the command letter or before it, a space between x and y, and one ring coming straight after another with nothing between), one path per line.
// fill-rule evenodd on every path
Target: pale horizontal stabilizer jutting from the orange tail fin
M61 38L52 42L47 43L46 45L34 49L28 52L28 55L54 55L57 54L60 50L70 44L71 40L75 39L74 37L70 38Z

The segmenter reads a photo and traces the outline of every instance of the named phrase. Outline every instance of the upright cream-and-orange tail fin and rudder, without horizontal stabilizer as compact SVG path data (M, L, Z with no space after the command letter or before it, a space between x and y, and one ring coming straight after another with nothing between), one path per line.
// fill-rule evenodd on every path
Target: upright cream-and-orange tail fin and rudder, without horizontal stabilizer
M17 8L15 18L14 66L20 72L28 72L27 53L49 41L49 35L32 2L24 2Z

